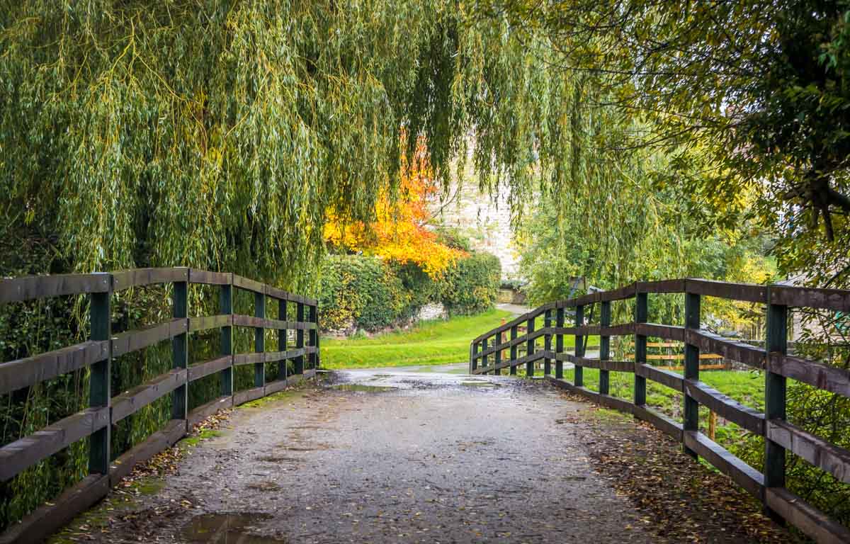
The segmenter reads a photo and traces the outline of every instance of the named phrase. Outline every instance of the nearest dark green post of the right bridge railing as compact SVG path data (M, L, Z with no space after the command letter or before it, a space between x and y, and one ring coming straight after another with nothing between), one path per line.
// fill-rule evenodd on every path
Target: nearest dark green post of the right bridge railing
M765 338L766 355L788 353L788 307L772 303L773 296L768 287L768 327ZM785 420L785 394L787 380L771 371L764 374L764 417ZM764 486L785 487L785 448L771 439L764 440ZM779 514L767 509L768 515L780 520Z

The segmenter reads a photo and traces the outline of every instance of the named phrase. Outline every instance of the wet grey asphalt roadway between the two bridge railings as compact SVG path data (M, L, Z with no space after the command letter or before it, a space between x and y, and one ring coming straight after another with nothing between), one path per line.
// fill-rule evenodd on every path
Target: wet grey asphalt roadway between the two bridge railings
M108 541L656 541L593 472L585 407L541 380L334 372L234 411Z

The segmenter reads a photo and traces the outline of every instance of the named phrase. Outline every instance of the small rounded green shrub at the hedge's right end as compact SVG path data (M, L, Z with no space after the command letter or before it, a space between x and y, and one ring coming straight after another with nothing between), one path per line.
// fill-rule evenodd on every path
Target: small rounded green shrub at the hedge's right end
M490 253L471 253L447 274L443 303L451 315L478 314L493 308L499 294L501 263Z

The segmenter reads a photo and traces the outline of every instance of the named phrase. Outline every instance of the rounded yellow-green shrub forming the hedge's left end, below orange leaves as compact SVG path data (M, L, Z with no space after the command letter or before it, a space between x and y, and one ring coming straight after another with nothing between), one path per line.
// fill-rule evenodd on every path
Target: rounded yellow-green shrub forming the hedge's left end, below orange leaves
M320 322L326 329L352 324L374 331L405 315L410 292L376 257L330 255L322 263Z

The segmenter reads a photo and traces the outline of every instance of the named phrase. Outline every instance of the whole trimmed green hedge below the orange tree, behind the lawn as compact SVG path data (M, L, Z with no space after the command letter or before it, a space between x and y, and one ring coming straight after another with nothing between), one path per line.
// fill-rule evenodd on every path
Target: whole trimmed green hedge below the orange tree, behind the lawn
M450 314L491 309L501 265L489 253L472 253L432 280L415 265L377 257L329 255L321 265L320 323L326 330L376 331L415 317L425 304L443 303Z

